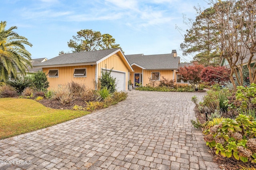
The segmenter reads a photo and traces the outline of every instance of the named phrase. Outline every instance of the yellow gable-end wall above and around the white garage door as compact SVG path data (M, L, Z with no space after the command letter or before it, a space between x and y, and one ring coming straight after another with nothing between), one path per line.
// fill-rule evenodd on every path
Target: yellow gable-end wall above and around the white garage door
M107 69L113 68L113 70L125 72L125 76L126 76L126 89L125 90L128 90L128 68L126 67L126 65L124 64L124 61L122 61L121 57L117 53L108 57L104 61L98 63L97 66L98 66L97 67L98 68L98 78L101 76L102 68L107 68Z

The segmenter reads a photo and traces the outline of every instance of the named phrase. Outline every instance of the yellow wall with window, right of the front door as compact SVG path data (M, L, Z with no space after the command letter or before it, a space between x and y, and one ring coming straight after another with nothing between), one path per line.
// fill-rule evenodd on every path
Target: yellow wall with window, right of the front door
M143 86L146 86L149 83L149 78L151 78L152 72L160 72L160 80L162 80L162 77L168 80L175 80L175 75L173 77L172 70L143 70ZM158 84L158 82L159 80L156 80L156 85Z

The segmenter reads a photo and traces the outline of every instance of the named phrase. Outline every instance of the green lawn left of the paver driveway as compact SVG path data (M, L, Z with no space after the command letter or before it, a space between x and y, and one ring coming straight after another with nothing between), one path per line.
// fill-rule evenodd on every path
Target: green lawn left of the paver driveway
M51 109L30 99L0 98L0 139L50 127L89 113Z

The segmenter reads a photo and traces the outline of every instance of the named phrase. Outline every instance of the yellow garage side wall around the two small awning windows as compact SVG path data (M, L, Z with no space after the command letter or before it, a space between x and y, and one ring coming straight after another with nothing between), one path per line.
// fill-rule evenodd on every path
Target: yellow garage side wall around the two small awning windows
M74 77L74 69L75 68L86 68L86 77ZM95 80L95 65L82 65L82 66L66 66L66 67L50 67L50 68L43 68L43 72L48 74L49 70L56 70L58 69L58 77L49 77L48 81L50 82L50 88L57 88L58 85L67 84L69 82L77 82L80 84L86 85L86 87L94 89L94 82Z

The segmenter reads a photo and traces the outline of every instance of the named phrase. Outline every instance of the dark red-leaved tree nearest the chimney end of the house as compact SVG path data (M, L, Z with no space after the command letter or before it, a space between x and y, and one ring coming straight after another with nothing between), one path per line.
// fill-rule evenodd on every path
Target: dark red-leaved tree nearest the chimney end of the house
M187 80L194 87L200 82L200 73L203 69L203 65L194 62L193 65L179 68L178 72L182 76L182 80Z

